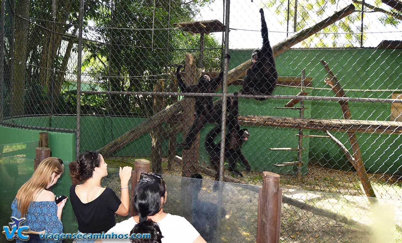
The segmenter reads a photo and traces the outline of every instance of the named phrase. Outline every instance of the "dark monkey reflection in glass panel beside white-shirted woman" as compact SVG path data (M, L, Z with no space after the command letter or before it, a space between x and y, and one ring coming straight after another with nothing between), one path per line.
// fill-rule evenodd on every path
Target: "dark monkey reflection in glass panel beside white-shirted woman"
M193 174L191 178L202 179L200 174ZM201 201L198 194L201 190L202 180L191 180L189 192L191 193L192 204L191 214L193 216L191 225L200 233L207 242L215 242L215 231L217 229L218 205L212 202ZM226 216L226 210L222 207L221 218Z

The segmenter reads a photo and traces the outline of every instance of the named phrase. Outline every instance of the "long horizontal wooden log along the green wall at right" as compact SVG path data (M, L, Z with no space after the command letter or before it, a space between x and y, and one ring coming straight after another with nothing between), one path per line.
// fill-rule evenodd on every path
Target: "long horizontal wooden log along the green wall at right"
M240 125L322 131L401 134L402 122L379 120L313 119L286 116L238 116Z

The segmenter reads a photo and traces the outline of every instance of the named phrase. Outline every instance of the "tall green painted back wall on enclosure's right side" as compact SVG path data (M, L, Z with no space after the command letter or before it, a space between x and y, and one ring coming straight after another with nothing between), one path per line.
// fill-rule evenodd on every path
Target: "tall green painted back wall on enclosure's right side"
M315 88L330 88L324 83L327 72L320 63L328 63L344 89L402 89L402 49L292 49L276 57L279 76L300 76L306 68L306 76L312 77ZM230 67L250 58L250 50L231 51ZM275 90L275 94L288 94L285 90ZM391 98L391 92L347 91L348 97ZM312 90L312 96L334 96L332 90ZM390 120L390 103L349 102L352 119ZM250 109L253 109L252 106ZM283 112L283 111L281 111ZM274 111L274 115L277 112ZM312 101L312 118L343 119L338 102ZM331 132L350 149L347 135ZM320 131L311 134L325 135ZM402 174L401 135L381 135L357 133L365 167L370 172ZM305 139L304 139L305 141ZM351 151L351 149L350 149ZM313 138L310 140L310 162L318 162L333 168L351 168L343 152L330 140Z

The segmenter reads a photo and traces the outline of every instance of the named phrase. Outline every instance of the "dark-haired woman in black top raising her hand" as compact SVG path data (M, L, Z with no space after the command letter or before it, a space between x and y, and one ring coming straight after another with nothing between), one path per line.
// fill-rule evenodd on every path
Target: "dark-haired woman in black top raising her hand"
M132 168L120 167L121 200L110 188L100 186L107 176L107 163L100 153L86 151L70 163L70 202L78 221L77 234L107 232L115 226L115 213L126 216L129 212L128 181ZM82 184L78 185L79 183ZM86 238L86 235L82 235ZM91 243L96 239L75 239L76 243Z

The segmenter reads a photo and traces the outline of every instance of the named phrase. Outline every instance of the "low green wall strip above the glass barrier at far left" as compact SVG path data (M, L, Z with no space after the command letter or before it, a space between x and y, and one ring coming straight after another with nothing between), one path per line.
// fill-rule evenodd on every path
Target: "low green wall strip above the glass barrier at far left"
M39 132L41 131L0 126L0 144L38 141ZM76 136L74 133L49 132L49 148L52 156L72 161L76 158Z

